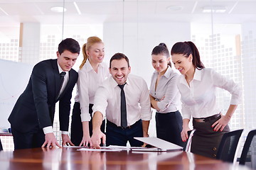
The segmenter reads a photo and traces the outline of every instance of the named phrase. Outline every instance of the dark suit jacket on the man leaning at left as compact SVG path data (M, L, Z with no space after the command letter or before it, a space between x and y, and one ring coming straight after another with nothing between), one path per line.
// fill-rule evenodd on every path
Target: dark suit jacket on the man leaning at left
M33 67L25 91L11 111L11 127L20 132L29 132L53 125L55 103L59 102L60 130L68 131L70 99L78 80L78 73L71 69L69 81L62 94L60 91L60 73L57 60L45 60ZM18 85L18 84L17 84Z

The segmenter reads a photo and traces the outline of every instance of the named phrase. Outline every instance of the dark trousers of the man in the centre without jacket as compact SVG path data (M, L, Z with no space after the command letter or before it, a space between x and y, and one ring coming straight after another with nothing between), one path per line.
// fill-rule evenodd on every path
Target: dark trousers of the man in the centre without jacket
M134 140L134 137L143 137L142 120L138 120L136 123L125 129L117 127L117 125L107 120L106 137L107 146L126 146L129 141L129 144L132 147L141 147L143 142Z

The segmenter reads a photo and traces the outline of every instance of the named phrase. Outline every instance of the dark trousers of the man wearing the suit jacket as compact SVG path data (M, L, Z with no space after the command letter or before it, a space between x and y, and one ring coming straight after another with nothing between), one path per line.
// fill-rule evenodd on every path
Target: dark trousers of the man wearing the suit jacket
M43 129L22 133L11 127L11 131L14 137L14 149L41 147L46 140Z

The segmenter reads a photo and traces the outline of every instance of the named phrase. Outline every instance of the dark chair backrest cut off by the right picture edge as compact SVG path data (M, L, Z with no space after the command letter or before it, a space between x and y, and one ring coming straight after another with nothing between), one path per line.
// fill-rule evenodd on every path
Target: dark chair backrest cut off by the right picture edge
M239 164L250 164L250 168L256 169L256 130L251 130L245 140L245 145L242 148L242 154Z

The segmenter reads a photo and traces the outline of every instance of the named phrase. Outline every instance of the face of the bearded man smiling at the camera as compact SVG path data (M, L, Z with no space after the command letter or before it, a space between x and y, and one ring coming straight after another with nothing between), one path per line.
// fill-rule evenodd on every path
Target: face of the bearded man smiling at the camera
M110 74L117 84L124 84L127 81L128 74L131 72L131 67L125 59L112 60Z

